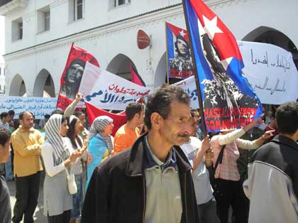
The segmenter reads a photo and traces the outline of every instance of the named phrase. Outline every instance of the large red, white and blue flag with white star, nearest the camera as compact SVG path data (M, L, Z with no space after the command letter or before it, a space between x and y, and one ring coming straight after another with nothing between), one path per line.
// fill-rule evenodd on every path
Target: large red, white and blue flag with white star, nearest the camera
M184 0L207 131L238 129L262 114L260 99L243 76L236 38L202 0Z

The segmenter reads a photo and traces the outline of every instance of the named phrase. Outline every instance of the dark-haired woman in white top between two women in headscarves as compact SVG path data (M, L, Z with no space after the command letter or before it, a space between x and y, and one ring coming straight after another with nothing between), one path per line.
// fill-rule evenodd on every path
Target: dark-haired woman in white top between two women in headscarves
M77 150L82 151L83 156L87 157L85 152L87 149L87 141L83 143L83 139L79 136L80 131L82 130L81 122L77 116L71 115L67 117L67 125L69 127L67 131L67 137L65 141L68 148L71 152ZM79 157L70 165L70 173L75 175L75 183L77 184L77 193L72 195L73 207L70 212L70 223L76 222L81 215L82 205L83 205L83 178L82 178L82 158Z

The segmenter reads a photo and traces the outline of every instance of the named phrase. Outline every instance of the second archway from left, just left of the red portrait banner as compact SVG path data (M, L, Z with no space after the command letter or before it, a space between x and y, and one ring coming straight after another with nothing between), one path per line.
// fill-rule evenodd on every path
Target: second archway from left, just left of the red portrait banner
M40 70L36 77L34 88L34 97L55 97L55 86L53 78L48 70Z

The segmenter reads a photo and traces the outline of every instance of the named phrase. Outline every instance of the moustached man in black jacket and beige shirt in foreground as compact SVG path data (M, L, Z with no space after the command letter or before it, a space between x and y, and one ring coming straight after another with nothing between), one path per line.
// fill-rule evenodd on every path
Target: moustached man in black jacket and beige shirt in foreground
M199 222L191 167L180 146L192 126L189 96L162 85L148 99L148 134L101 163L92 175L82 223Z

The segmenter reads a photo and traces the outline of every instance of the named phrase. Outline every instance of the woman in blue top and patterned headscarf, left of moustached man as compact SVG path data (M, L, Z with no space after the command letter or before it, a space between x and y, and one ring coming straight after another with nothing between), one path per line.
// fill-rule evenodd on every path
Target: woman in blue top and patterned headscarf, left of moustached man
M92 177L92 173L99 163L101 163L102 158L105 153L107 156L113 151L114 138L111 136L114 124L113 119L109 116L99 116L94 119L92 126L89 130L89 162L87 165L87 181L86 190L89 185L89 180Z

